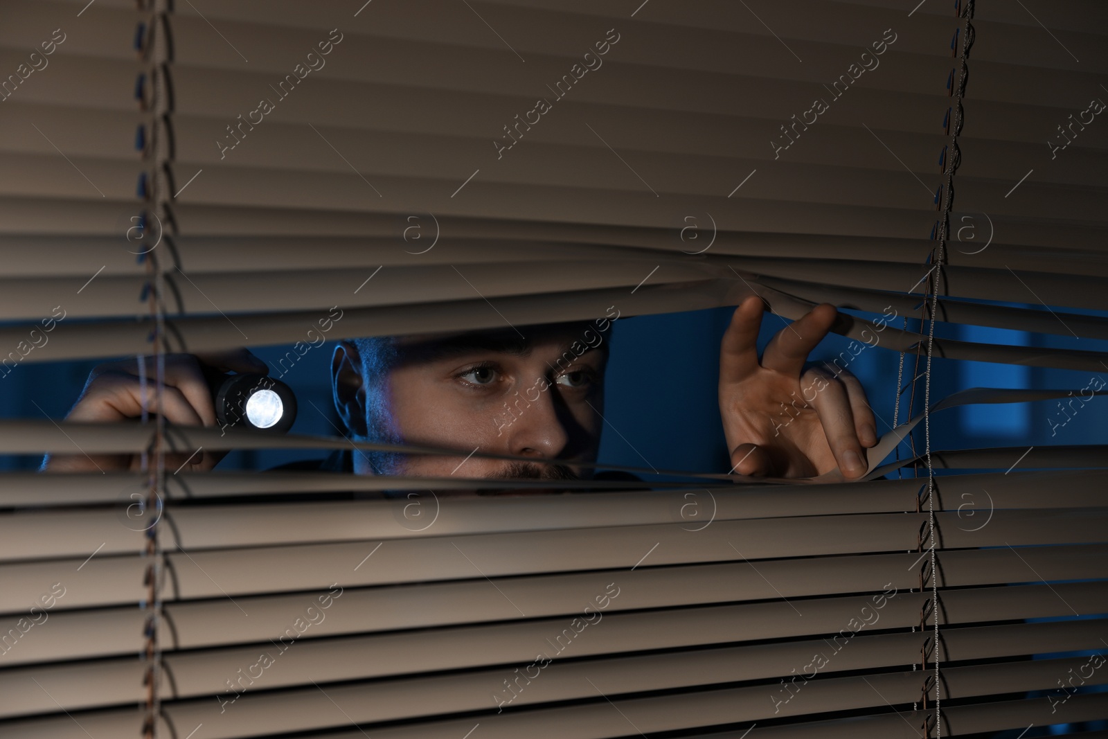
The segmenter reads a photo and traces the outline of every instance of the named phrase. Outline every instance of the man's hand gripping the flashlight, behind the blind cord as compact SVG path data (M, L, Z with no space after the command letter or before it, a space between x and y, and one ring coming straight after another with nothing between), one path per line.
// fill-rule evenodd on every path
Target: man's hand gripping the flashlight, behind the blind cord
M153 357L144 357L146 374L146 409L162 413L166 421L177 425L215 425L215 407L212 391L202 367L220 372L257 372L268 374L269 367L246 349L234 351L166 355L165 388L162 390L164 408L157 406L155 382L157 367ZM66 421L110 423L142 417L143 391L138 380L138 362L127 360L98 366L89 376L84 391L65 417ZM226 452L199 452L189 459L188 453L167 454L166 466L184 464L187 470L211 470ZM138 470L141 454L53 454L42 465L47 472L107 472L109 470Z

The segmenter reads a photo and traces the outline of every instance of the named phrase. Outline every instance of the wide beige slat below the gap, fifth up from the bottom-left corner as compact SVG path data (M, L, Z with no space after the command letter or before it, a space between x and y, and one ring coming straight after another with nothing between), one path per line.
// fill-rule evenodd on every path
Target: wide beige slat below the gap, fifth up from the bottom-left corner
M1090 482L1092 480L1102 481L1104 475L1089 475L1088 479ZM923 483L916 482L915 484L919 486ZM913 506L915 501L914 492L909 493L907 487L911 487L911 483L901 485L904 493L899 496L899 503L903 507ZM821 492L828 494L828 491ZM950 494L953 495L953 491ZM145 500L145 487L141 484L134 484L129 489L121 490L120 502L112 509L0 514L0 561L88 556L86 553L93 550L103 555L137 554L144 547L143 532L153 525L154 515L153 513L150 515L141 514L132 511L130 506L135 501ZM991 512L988 519L991 531L985 531L982 527L979 533L971 532L973 528L978 528L978 522L971 522L964 515L966 500L958 501L957 497L948 497L951 507L957 506L957 510L938 513L940 523L950 528L950 531L944 531L945 546L995 546L1003 545L1005 541L1014 545L1090 543L1105 538L1104 534L1096 530L1096 526L1100 525L1108 516L1108 507L1104 506L1104 501L1098 502L1098 507L1085 509L1079 513L1058 507L1053 501L1051 507L1037 511L996 510L996 501L991 495L992 493L972 495L970 499L973 503L971 510L979 511L982 517ZM998 494L998 497L1001 497L1003 506L1004 497L1002 494ZM684 562L700 556L712 556L710 554L712 552L716 552L716 556L720 556L719 553L727 552L726 542L728 538L743 542L742 546L746 552L743 556L755 558L794 556L800 552L820 555L895 550L901 548L905 542L914 543L914 531L922 521L926 520L925 513L902 512L861 515L840 513L830 516L806 515L768 519L748 519L747 516L730 519L731 514L725 514L725 516L717 517L709 526L707 525L707 521L709 521L707 516L710 506L712 506L709 495L696 496L694 494L693 497L684 497L684 494L671 494L659 506L665 511L665 514L659 515L659 511L648 519L649 523L632 525L633 521L620 520L614 509L609 509L607 515L604 515L605 511L598 506L601 507L599 515L604 516L605 520L597 521L594 524L595 528L579 531L575 527L571 528L572 523L566 519L562 519L561 523L556 523L555 519L540 525L515 519L509 525L484 527L489 533L478 533L483 527L474 526L472 523L461 527L444 524L440 528L434 528L430 523L430 516L438 507L434 499L430 495L423 495L413 500L421 507L425 506L429 516L425 533L410 531L422 526L417 526L414 520L403 519L404 505L411 503L412 500L400 499L399 504L386 505L337 502L284 503L265 506L248 504L226 509L224 506L207 509L174 506L163 514L162 541L167 550L181 547L196 556L207 556L199 553L212 550L304 544L324 547L318 551L320 556L327 560L329 557L324 552L326 547L332 546L331 543L367 540L391 541L401 537L402 541L396 542L397 547L410 555L423 554L434 558L435 555L432 554L434 552L445 554L451 551L449 545L442 548L445 545L443 537L470 535L471 538L468 541L474 542L481 547L484 547L486 542L489 546L494 546L493 542L499 538L503 542L503 546L514 548L519 537L530 538L532 546L542 548L546 554L553 556L553 551L547 551L548 547L568 546L571 542L576 543L578 540L583 544L594 533L598 534L603 530L611 533L614 543L618 543L616 547L608 551L606 558L602 557L597 561L596 566L604 567L619 566L620 558L615 554L616 551L635 551L647 540L671 543L675 546L680 544L702 547L698 552L690 552L687 557L678 560ZM704 507L704 524L700 522L693 524L690 520L681 517L681 505L689 502ZM586 512L592 509L587 503L581 507ZM129 515L129 512L132 515ZM686 509L686 513L688 513L688 509ZM701 528L701 531L693 531L695 528ZM523 533L524 531L529 533ZM690 540L686 536L687 534L702 535ZM808 543L798 545L779 538L792 536L804 537ZM1005 540L1004 537L1009 538ZM688 543L686 544L686 542ZM861 544L862 542L864 544ZM340 545L334 544L334 546ZM791 546L796 548L790 548ZM599 553L594 554L601 556ZM239 555L247 558L250 556L246 552L226 554L229 558ZM397 556L401 556L399 552ZM616 558L611 558L613 556ZM567 558L564 563L567 568L573 569L586 566L585 562L587 561L587 556L583 554L572 560ZM579 564L571 565L571 562ZM602 562L606 564L602 564ZM538 561L534 561L534 565L545 568L545 565L538 565ZM501 573L511 574L511 571L501 571Z

